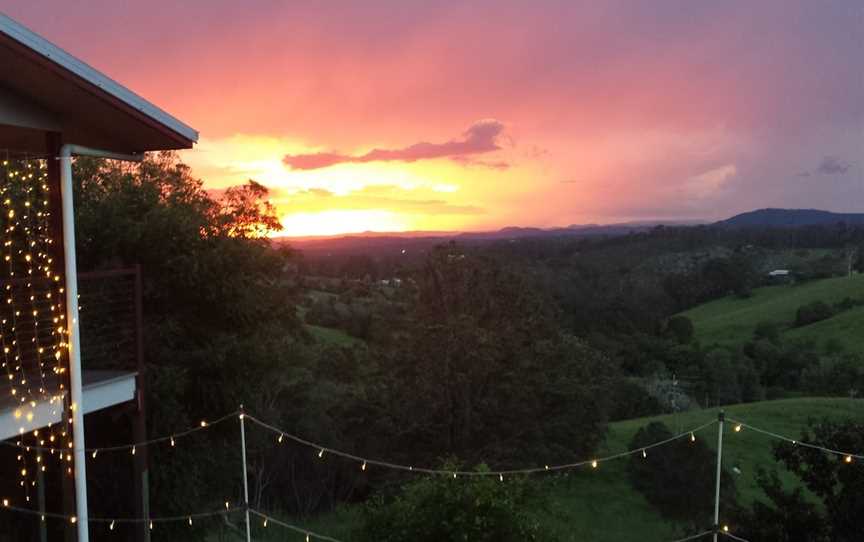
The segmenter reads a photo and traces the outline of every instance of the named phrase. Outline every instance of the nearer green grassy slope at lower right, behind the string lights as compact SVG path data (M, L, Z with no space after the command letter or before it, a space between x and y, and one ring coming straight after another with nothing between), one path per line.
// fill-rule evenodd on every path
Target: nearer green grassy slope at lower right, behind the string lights
M785 399L735 405L727 407L726 412L728 416L750 425L794 438L800 435L810 419L864 419L864 400ZM651 421L662 421L674 432L679 432L716 418L717 410L709 409L616 422L610 424L606 443L599 455L626 450L636 431ZM697 438L705 439L712 448L716 448L717 426L704 429L697 434ZM724 465L727 469L737 467L740 471L740 474L735 475L740 502L749 503L760 498L761 491L756 485L755 474L759 467L776 468L772 456L774 442L746 429L737 433L731 423L726 424ZM660 447L649 453L662 451ZM687 534L680 526L664 521L651 504L630 487L626 474L627 461L609 461L601 463L597 469L587 467L566 476L546 478L543 483L547 491L543 501L537 504L543 521L562 540L568 542L664 542ZM781 478L787 484L796 483L796 479L788 472L781 472ZM352 540L352 531L360 521L360 510L353 507L316 518L304 523L304 526L349 542ZM704 523L710 524L710 518L705 518ZM273 531L267 533L272 538L264 540L284 539L284 531Z

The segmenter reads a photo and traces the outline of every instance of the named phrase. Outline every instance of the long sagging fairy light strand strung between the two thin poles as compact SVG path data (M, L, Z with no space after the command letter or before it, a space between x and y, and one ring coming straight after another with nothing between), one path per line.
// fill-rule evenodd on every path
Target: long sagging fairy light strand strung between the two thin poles
M562 470L568 470L568 469L575 469L575 468L583 467L586 465L590 465L590 466L596 468L602 462L611 461L613 459L619 459L619 458L627 457L627 456L634 455L634 454L642 454L643 457L645 457L647 455L647 450L650 450L652 448L656 448L658 446L663 446L663 445L668 444L670 442L673 442L675 440L679 440L679 439L683 439L683 438L689 439L689 438L691 438L691 436L693 434L695 434L695 433L697 433L697 432L699 432L699 431L701 431L707 427L711 427L712 425L717 423L717 420L712 420L712 421L704 423L698 427L694 427L693 429L684 431L683 433L680 433L678 435L674 435L672 437L661 440L659 442L655 442L653 444L649 444L647 446L640 446L639 448L634 448L632 450L619 452L617 454L612 454L612 455L603 456L603 457L596 457L593 459L586 459L584 461L577 461L575 463L565 463L565 464L561 464L561 465L545 465L542 467L530 467L530 468L522 468L522 469L504 469L504 470L478 472L478 471L462 471L462 470L455 470L454 471L454 470L444 470L444 469L432 469L432 468L425 468L425 467L414 467L414 466L403 465L403 464L399 464L399 463L391 463L389 461L379 461L379 460L375 460L375 459L368 459L365 457L361 457L359 455L351 454L348 452L343 452L341 450L337 450L334 448L328 448L327 446L322 446L321 444L318 444L316 442L312 442L312 441L306 440L302 437L298 437L298 436L293 435L287 431L279 429L278 427L275 427L273 425L265 423L265 422L255 418L254 416L248 414L248 413L246 414L246 418L257 425L259 425L265 429L268 429L269 431L271 431L273 433L276 433L277 435L279 435L283 439L287 438L287 439L290 439L290 440L292 440L298 444L302 444L302 445L307 446L309 448L313 448L313 449L318 450L318 457L322 457L323 454L326 452L328 454L342 457L344 459L350 459L352 461L356 461L356 462L360 463L362 470L366 470L366 468L368 468L369 466L377 466L377 467L384 467L384 468L389 468L389 469L394 469L394 470L419 472L419 473L423 473L423 474L438 474L438 475L446 475L446 476L496 476L499 478L502 476L514 475L514 474L535 474L535 473L540 473L540 472L562 471ZM366 468L364 468L364 467L366 467Z

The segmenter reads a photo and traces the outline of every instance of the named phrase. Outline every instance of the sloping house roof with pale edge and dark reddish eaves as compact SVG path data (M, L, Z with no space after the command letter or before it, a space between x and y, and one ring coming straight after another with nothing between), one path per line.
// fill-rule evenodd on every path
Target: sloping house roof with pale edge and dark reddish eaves
M67 143L128 153L198 141L187 124L2 13L0 67L0 98L40 119L14 133L0 127L0 147L39 152L45 131L62 132Z

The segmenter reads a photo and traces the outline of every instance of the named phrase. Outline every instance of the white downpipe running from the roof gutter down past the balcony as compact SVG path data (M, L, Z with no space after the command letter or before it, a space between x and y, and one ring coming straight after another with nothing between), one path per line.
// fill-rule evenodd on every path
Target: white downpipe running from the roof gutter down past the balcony
M60 147L60 199L63 218L63 264L66 291L66 330L69 352L69 401L72 411L72 446L75 469L75 519L78 542L89 542L87 516L87 465L84 449L84 393L81 371L81 333L78 322L78 267L75 262L75 205L72 200L72 155L141 161L141 155L118 154L78 145Z

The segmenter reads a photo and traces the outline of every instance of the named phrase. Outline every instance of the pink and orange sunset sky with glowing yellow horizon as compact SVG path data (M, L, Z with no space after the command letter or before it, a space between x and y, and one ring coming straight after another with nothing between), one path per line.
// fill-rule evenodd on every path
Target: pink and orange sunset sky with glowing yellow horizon
M287 235L864 211L860 0L21 2Z

